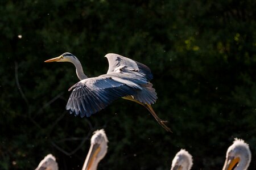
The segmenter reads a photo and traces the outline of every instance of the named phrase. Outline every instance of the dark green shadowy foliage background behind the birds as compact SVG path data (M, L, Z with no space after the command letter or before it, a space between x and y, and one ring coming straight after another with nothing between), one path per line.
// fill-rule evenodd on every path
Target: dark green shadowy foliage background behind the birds
M256 169L256 1L1 1L0 169L34 169L49 153L81 169L96 129L109 150L98 169L170 169L180 148L192 169L222 169L235 137ZM78 82L105 74L107 53L151 68L153 105L173 134L136 103L119 99L89 118L65 111Z

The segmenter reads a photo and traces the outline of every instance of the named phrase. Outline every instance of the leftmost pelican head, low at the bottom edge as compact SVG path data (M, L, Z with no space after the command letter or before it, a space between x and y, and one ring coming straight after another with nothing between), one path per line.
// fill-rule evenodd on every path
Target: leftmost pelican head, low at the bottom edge
M38 167L35 170L58 170L58 164L56 159L52 154L48 154L44 159L39 163Z

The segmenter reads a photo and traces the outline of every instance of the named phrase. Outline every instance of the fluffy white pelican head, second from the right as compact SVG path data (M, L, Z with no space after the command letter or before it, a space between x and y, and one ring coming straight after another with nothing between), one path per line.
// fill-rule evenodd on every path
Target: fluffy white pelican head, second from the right
M189 170L193 165L193 159L188 151L181 149L172 160L171 170Z

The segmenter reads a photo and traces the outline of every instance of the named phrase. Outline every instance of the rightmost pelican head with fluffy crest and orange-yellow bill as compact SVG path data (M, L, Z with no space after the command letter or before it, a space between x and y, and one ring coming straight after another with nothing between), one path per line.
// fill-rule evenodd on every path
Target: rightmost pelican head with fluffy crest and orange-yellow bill
M251 162L249 145L242 139L234 139L233 145L226 152L226 160L222 170L246 170Z

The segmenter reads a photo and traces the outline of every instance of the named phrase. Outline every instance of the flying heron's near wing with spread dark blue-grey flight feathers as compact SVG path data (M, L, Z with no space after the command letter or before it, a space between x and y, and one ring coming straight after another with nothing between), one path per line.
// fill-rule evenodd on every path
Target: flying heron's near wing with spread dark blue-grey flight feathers
M141 90L138 84L124 81L126 80L106 74L81 80L71 87L74 90L68 99L66 109L69 113L75 113L75 116L80 114L81 117L89 117L104 109L113 100L133 95L136 90Z

